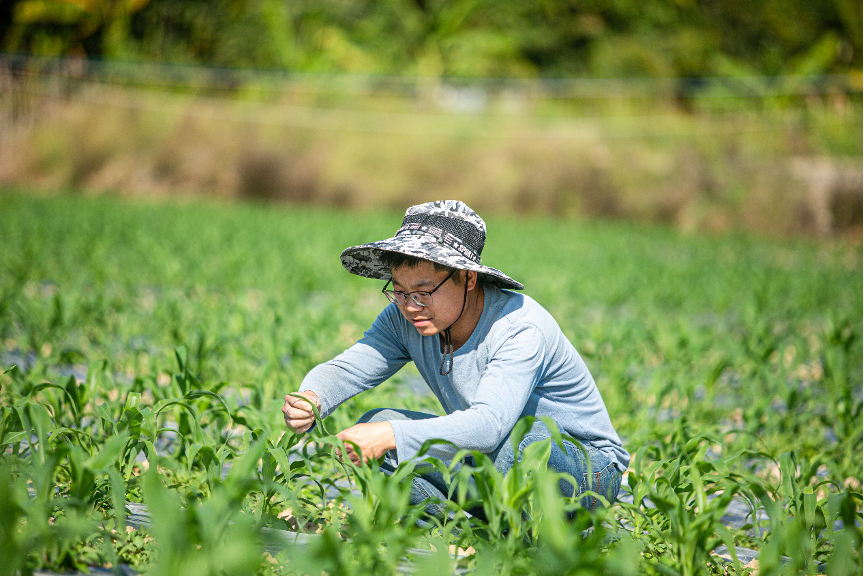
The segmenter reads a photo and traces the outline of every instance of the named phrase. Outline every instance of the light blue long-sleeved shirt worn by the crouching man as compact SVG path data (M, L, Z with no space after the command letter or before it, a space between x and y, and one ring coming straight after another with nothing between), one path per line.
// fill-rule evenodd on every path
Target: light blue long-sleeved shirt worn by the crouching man
M439 336L421 336L391 304L362 339L312 369L300 390L314 391L327 416L414 361L447 415L390 421L400 462L415 457L428 439L491 453L520 417L546 415L562 432L607 454L624 472L630 455L588 367L552 315L526 295L490 285L483 289L480 320L455 352L450 374L439 373ZM454 452L439 445L429 454L446 459Z

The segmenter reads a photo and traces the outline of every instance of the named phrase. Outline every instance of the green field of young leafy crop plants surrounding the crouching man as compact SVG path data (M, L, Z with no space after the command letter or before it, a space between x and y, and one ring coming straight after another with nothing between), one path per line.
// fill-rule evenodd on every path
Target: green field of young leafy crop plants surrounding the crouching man
M507 478L481 455L453 472L479 493L455 493L429 533L412 528L410 467L343 466L327 435L374 407L440 412L413 369L311 438L284 434L279 411L385 304L339 252L400 219L0 195L0 569L750 571L711 553L727 544L758 549L760 573L861 572L860 245L487 219L484 262L525 283L594 374L633 454L633 504L580 511L550 490L540 445ZM472 499L487 523L462 513ZM733 499L764 518L727 528ZM152 529L127 534L125 501ZM267 557L266 527L321 537Z

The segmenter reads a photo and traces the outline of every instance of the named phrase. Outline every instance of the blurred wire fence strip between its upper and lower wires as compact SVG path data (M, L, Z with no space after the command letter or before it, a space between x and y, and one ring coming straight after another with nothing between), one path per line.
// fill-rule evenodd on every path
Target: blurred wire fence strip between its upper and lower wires
M325 132L499 138L508 123L540 119L555 130L507 138L583 140L602 125L613 139L782 132L801 111L848 114L826 126L861 127L861 74L711 78L430 78L310 74L0 54L4 125L28 123L46 104L75 102ZM191 106L190 103L194 103ZM675 122L681 111L708 124ZM615 120L626 117L625 124ZM444 119L442 121L442 119ZM456 120L454 122L454 119ZM493 126L490 126L490 121ZM483 124L485 122L485 125ZM473 123L466 128L466 123Z

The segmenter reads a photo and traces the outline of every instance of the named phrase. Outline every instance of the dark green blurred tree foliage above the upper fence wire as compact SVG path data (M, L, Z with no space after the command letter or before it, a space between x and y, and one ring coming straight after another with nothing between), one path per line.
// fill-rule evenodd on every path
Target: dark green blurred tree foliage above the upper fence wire
M15 0L5 10L5 50L312 72L692 77L730 61L757 74L862 62L860 2Z

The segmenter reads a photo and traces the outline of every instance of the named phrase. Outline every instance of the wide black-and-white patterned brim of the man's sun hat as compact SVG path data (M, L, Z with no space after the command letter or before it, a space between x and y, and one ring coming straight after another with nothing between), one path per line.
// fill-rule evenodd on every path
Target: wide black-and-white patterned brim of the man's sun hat
M388 280L390 267L381 262L381 251L398 252L401 254L422 258L461 270L475 271L481 281L495 284L501 288L523 290L522 283L517 282L491 266L478 264L466 258L458 251L438 244L427 235L403 235L352 246L342 251L342 266L351 274L366 278Z

